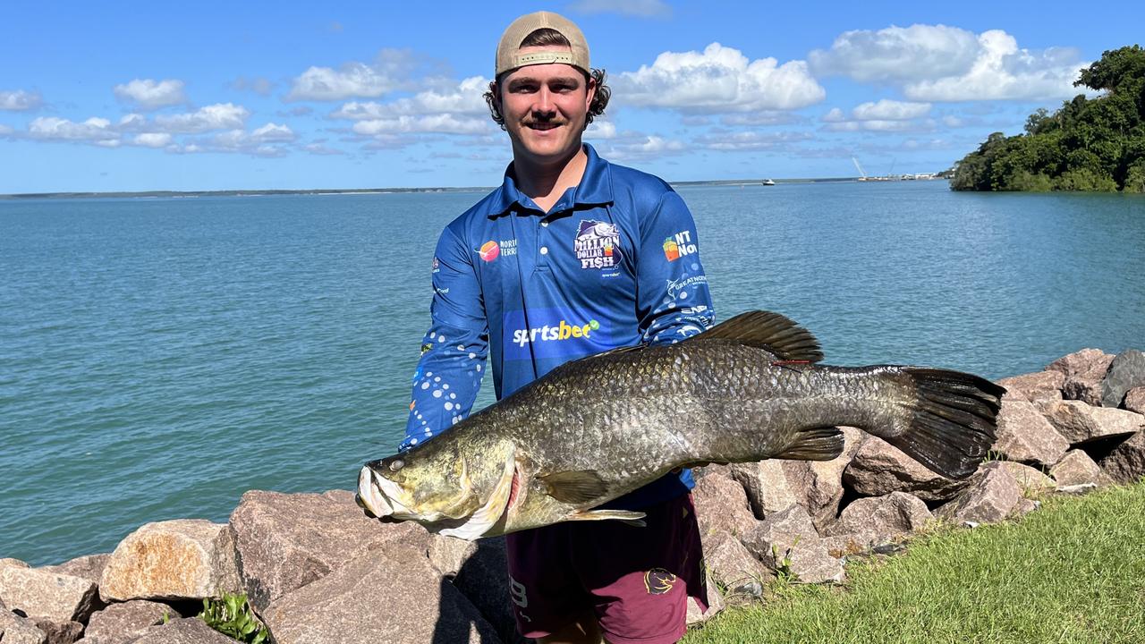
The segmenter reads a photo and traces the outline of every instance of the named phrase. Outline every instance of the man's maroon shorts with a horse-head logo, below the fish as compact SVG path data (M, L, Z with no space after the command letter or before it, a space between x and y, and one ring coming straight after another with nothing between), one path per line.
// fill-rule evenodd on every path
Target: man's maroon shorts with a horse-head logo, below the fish
M551 635L591 610L613 644L684 637L688 596L706 608L692 495L643 512L646 527L568 521L507 535L510 598L521 635Z

